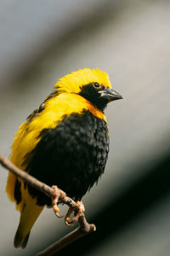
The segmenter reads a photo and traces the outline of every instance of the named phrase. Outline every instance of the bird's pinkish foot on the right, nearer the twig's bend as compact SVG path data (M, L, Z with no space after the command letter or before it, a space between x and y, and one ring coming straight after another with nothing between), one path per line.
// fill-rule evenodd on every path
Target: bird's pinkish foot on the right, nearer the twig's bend
M71 217L71 213L72 212L77 212L76 216L74 218L70 218ZM77 219L80 217L80 215L82 214L82 212L85 211L84 205L82 201L77 201L77 206L76 207L70 207L68 212L65 215L65 224L67 226L72 226L74 222L77 221Z

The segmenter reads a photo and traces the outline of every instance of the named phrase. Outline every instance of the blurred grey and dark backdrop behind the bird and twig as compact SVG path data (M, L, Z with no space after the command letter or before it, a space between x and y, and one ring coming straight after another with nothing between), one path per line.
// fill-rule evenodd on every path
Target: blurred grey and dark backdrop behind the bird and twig
M105 175L83 199L97 231L59 255L167 256L170 251L170 2L65 0L0 3L0 152L66 73L99 67L124 99L106 111ZM34 255L71 229L45 209L26 249L0 166L0 254ZM65 212L66 207L61 207Z

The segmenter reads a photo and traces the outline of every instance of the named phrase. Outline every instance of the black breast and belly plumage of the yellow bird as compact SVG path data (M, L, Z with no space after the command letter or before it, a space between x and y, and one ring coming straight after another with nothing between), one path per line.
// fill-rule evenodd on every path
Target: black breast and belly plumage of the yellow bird
M109 151L104 119L91 112L72 113L54 129L42 130L41 140L26 154L26 171L48 185L56 184L68 196L81 200L105 170ZM48 175L47 175L48 173ZM28 186L37 204L51 204L46 195Z

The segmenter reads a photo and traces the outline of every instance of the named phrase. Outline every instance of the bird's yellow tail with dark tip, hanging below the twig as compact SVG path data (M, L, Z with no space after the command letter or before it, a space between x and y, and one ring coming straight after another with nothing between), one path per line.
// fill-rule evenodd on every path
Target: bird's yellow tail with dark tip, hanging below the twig
M20 212L20 224L14 236L14 247L26 247L31 228L42 212L43 207L31 205L30 203L26 203L23 207L22 212Z

